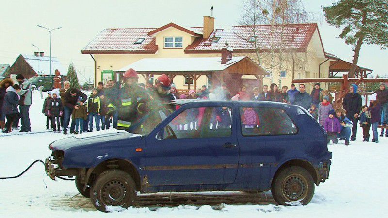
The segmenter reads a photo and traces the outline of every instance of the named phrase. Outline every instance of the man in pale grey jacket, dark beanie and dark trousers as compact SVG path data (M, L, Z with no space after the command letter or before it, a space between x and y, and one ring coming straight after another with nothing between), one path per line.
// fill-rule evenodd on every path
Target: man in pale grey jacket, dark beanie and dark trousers
M16 80L20 85L20 91L17 94L20 96L19 109L20 109L20 132L31 132L30 123L30 106L32 105L32 91L30 82L24 78L23 75L18 74ZM18 120L13 123L17 126Z

